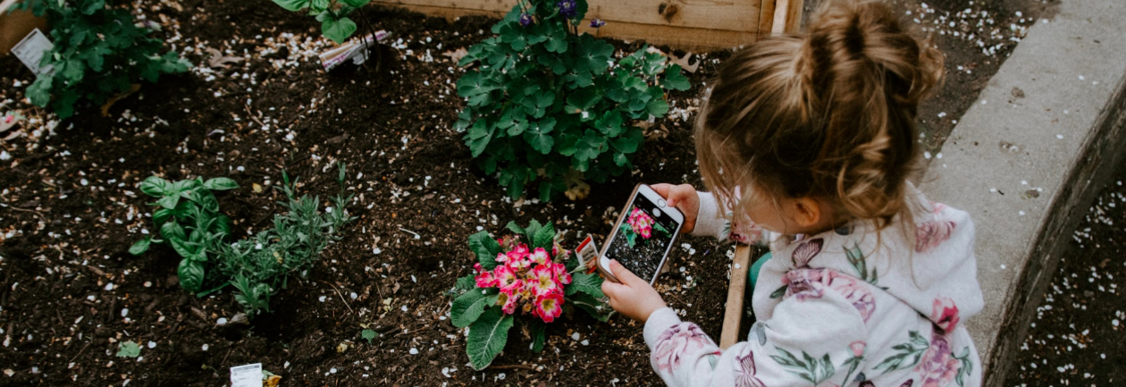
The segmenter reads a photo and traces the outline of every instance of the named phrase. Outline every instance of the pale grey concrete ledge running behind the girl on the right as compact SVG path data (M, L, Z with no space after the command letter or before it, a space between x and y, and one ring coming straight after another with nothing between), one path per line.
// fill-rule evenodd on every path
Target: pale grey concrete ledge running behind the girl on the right
M922 190L973 215L985 309L967 325L1000 386L1065 241L1126 155L1126 2L1066 0L1017 46Z

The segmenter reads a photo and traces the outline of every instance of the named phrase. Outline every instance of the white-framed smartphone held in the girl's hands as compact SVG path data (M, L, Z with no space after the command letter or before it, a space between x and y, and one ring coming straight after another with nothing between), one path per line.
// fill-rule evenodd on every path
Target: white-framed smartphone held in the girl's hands
M637 184L599 254L598 272L602 278L620 282L610 272L610 260L618 260L653 285L683 224L685 215L680 210L669 206L653 188Z

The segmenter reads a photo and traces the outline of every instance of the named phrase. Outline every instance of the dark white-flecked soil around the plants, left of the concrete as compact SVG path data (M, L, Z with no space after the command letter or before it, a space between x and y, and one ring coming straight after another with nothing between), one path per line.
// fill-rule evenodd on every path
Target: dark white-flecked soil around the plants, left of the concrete
M1017 22L1009 4L984 7L999 25ZM472 271L466 237L479 230L501 234L509 220L553 220L574 248L587 233L609 233L638 182L701 187L690 110L729 53L705 55L692 89L670 94L674 117L650 126L634 173L593 184L583 200L513 202L473 166L453 129L462 71L444 55L486 37L493 20L367 8L357 17L394 34L381 47L383 61L325 74L315 60L327 46L319 24L268 1L164 0L138 12L160 20L168 45L190 47L185 56L199 66L145 84L108 117L83 107L53 122L23 98L33 75L15 57L0 58L0 109L32 118L0 134L10 137L0 141L10 156L0 166L0 385L216 386L230 367L254 362L280 375L283 386L660 384L640 324L582 313L551 324L542 353L513 330L494 366L473 371L463 333L446 316L448 291ZM951 70L947 88L922 108L931 148L1015 45L990 58L950 44L951 69L977 68ZM207 48L220 51L214 68ZM926 118L940 111L945 118ZM348 165L346 184L356 194L348 210L359 218L250 325L217 326L240 308L229 291L184 291L171 249L127 252L154 232L144 215L152 200L137 189L149 176L236 180L241 188L218 200L241 236L270 226L279 210L271 187L283 170L323 199L338 191L337 162ZM658 280L669 305L713 338L731 254L730 245L682 237L670 255L673 270ZM382 335L368 343L364 328ZM125 341L141 344L140 358L115 356Z

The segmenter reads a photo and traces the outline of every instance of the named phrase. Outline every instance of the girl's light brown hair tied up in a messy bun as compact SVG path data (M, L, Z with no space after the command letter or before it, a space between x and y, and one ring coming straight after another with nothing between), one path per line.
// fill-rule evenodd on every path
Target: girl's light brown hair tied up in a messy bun
M759 40L720 69L696 124L700 174L735 214L819 197L883 230L910 218L914 118L942 78L942 54L887 6L829 0L805 35Z

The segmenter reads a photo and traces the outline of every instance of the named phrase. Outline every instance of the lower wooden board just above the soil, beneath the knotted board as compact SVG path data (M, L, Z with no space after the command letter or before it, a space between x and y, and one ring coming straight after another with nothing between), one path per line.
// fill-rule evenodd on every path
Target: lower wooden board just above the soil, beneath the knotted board
M376 0L374 2L381 2ZM491 10L429 7L429 6L395 6L415 12L422 12L436 17L454 19L463 16L489 16L503 17L503 14ZM673 48L692 52L704 52L713 50L725 50L751 44L757 39L757 30L734 32L707 28L688 28L674 26L654 26L633 22L608 22L600 32L588 27L589 22L583 22L580 32L598 34L604 37L614 37L627 42L645 40L653 45L669 45ZM488 34L489 32L485 30Z

